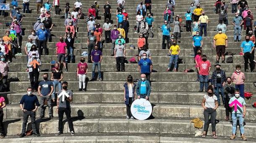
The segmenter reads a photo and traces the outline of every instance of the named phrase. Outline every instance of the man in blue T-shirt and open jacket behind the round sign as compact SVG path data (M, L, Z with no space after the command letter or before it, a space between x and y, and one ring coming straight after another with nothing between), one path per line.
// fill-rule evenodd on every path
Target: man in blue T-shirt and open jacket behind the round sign
M150 93L150 81L146 78L146 74L141 74L141 79L138 81L136 87L136 94L138 95L138 99L144 98L146 100L149 100Z

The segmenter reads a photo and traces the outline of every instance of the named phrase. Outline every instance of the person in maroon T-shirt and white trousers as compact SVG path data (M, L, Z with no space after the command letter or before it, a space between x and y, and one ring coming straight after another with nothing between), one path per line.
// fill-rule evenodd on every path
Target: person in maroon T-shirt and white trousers
M77 64L77 69L76 69L76 76L79 78L79 89L78 91L86 91L85 89L85 79L86 79L86 74L88 72L88 66L85 62L85 58L82 57L80 59L80 62ZM82 88L83 84L83 88Z

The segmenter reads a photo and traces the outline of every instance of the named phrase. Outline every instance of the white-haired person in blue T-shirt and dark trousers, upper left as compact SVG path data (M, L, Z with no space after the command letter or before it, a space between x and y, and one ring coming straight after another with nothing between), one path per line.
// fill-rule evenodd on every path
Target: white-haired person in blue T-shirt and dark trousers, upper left
M43 54L43 50L41 47L44 48L44 54L48 55L48 49L47 49L47 37L48 37L48 32L45 30L44 25L41 25L41 29L39 29L37 31L37 36L38 36L38 52L39 52L39 56L41 56Z

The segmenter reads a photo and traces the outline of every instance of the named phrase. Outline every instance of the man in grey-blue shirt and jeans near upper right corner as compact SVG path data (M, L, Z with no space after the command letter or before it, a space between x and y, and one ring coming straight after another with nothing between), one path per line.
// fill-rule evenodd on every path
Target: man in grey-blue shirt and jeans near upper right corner
M238 15L239 13L235 13L235 17L233 18L232 25L234 26L234 41L241 41L241 26L243 24L243 18Z

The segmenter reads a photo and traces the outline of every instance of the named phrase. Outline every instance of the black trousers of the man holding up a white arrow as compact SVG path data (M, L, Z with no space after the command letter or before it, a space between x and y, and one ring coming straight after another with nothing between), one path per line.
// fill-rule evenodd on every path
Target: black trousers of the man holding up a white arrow
M68 120L68 128L70 131L74 131L74 127L73 127L73 122L71 120L71 109L70 108L62 108L59 107L58 108L58 116L59 116L59 127L58 127L58 131L60 131L61 133L63 133L63 115L66 115L67 120Z

